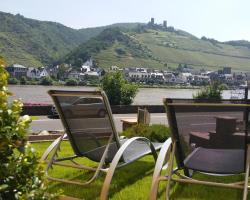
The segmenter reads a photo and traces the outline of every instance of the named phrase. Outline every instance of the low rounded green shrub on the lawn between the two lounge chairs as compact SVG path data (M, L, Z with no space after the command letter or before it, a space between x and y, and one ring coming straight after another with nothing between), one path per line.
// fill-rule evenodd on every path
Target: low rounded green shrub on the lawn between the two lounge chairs
M141 136L151 141L164 142L170 136L170 129L162 124L137 124L123 131L122 135L128 138Z

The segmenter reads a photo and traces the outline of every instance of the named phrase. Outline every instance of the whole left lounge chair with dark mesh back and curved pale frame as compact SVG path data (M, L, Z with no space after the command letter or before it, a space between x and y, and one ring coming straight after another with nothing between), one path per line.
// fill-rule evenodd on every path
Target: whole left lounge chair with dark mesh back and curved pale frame
M101 199L106 199L116 168L130 164L150 153L156 160L156 150L160 149L161 143L151 143L144 137L119 138L104 92L50 90L48 93L65 128L65 134L56 139L42 156L42 160L47 162L46 175L50 180L85 186L94 181L99 172L106 172L101 191ZM74 155L59 157L61 143L66 137ZM94 168L82 165L75 160L79 157L97 162L98 166ZM90 170L94 174L85 182L56 178L50 175L53 165Z

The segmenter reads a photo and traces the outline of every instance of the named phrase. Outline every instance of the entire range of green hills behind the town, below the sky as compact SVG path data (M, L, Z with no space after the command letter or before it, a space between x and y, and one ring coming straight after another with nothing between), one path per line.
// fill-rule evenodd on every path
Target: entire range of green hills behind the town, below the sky
M118 28L117 28L118 27ZM0 55L8 64L26 66L69 62L81 65L92 57L100 67L176 67L249 71L250 42L201 39L173 27L120 23L72 29L55 22L39 21L0 12Z

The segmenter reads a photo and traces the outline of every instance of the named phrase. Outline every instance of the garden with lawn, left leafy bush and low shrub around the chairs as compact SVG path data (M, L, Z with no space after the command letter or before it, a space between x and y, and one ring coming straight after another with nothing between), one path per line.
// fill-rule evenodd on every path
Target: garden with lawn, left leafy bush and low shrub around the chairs
M0 60L1 61L1 60ZM0 63L1 65L1 63ZM50 142L30 144L27 141L26 130L31 122L29 116L20 116L23 104L19 100L8 103L10 93L7 89L8 74L0 67L0 199L57 199L64 196L78 199L99 199L105 174L87 187L48 181L44 174L45 163L40 162L41 155ZM166 127L165 127L166 128ZM124 134L132 137L142 133L151 140L157 138L164 141L169 137L169 130L162 126L132 127ZM71 145L64 141L60 153L63 156L72 153ZM96 163L87 158L79 160L90 166ZM149 199L152 174L154 170L152 156L146 156L122 169L119 169L111 183L109 199ZM54 176L67 177L72 180L86 180L91 173L56 166ZM164 173L164 171L163 171ZM242 176L230 178L208 177L195 174L204 180L220 180L222 182L241 180ZM165 183L158 190L159 199L165 199ZM201 185L173 184L172 199L241 199L240 190L206 187Z

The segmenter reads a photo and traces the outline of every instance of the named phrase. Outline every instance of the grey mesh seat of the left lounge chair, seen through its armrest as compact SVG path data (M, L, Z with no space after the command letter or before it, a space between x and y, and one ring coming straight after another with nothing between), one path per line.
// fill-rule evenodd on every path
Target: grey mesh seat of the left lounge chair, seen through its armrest
M120 140L120 144L123 145L127 139ZM159 150L162 146L162 143L153 142L152 143L156 150ZM99 162L103 155L103 151L106 146L102 146L100 148L96 148L90 152L87 152L84 156L90 158L93 161ZM108 154L105 159L106 163L111 163L114 156L118 151L117 145L115 142L111 143L109 146ZM132 160L136 160L140 157L143 157L147 154L151 153L149 146L144 141L135 140L132 144L130 144L123 153L123 161L131 162Z

